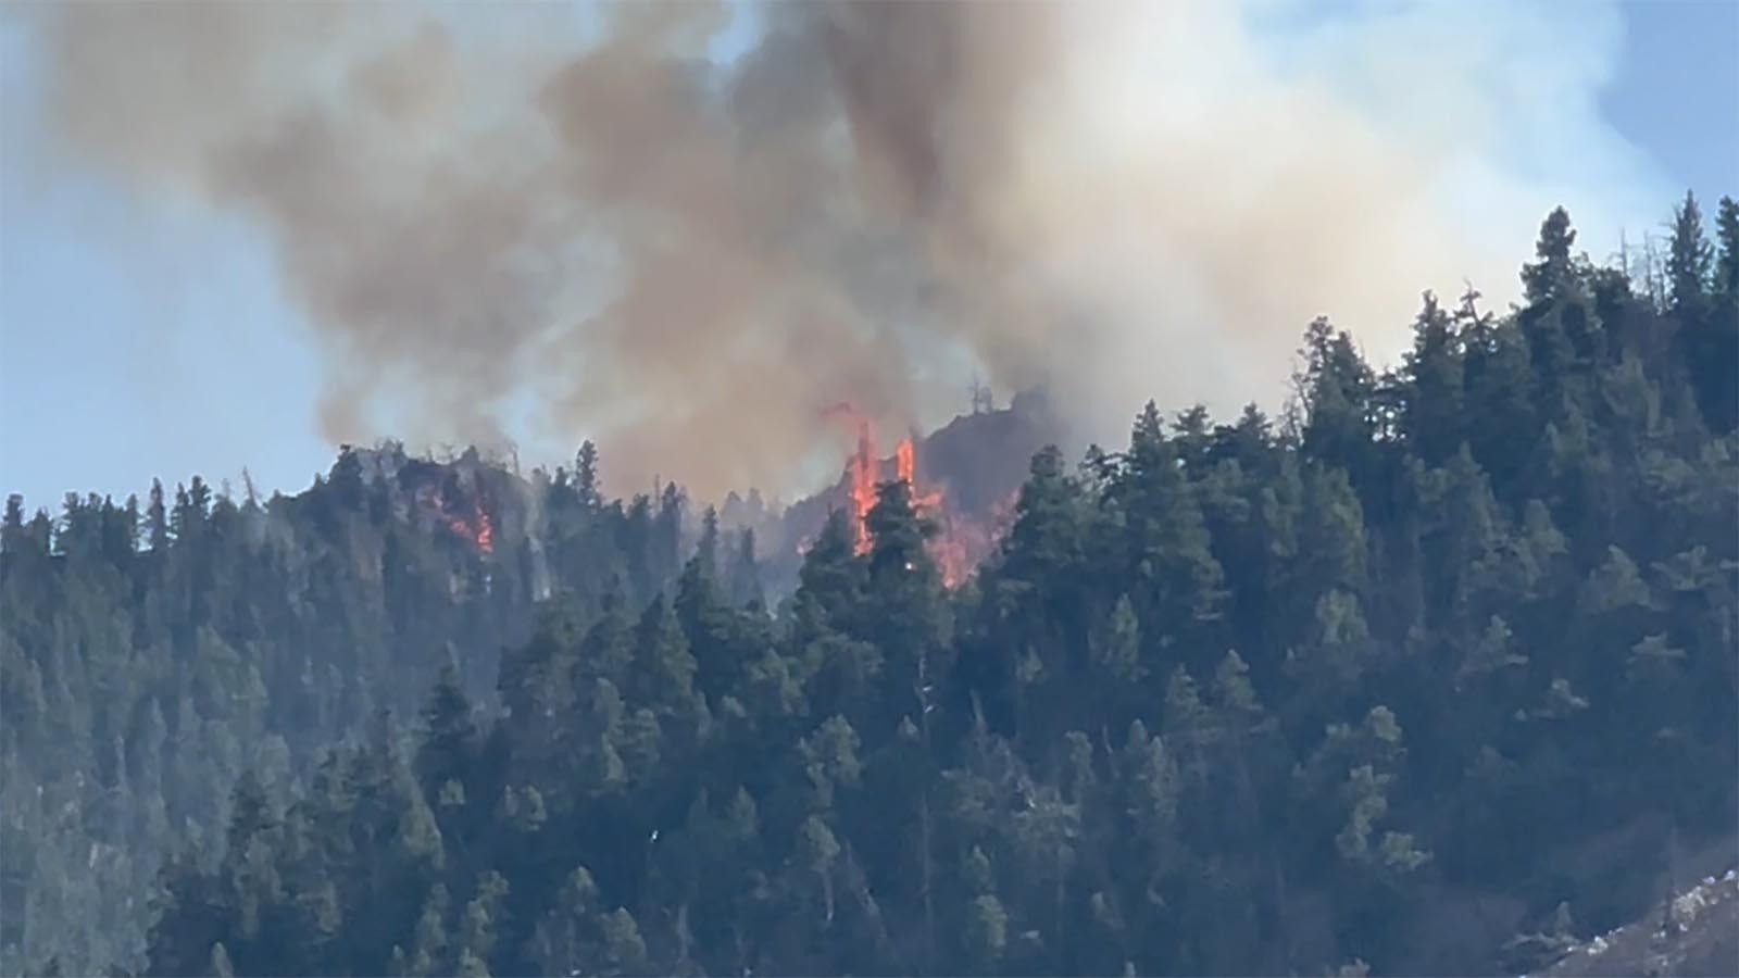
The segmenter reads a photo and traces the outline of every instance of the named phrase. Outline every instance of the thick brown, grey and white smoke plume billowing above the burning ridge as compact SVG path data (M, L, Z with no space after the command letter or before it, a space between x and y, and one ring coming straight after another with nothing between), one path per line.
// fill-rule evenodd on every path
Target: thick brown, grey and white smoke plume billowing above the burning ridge
M330 439L595 437L616 486L716 494L840 445L828 404L936 421L976 371L1101 439L1148 397L1273 402L1311 317L1388 357L1419 289L1502 294L1551 204L1586 226L1649 197L1591 108L1616 16L1469 7L772 3L748 33L711 3L153 2L35 28L45 151L268 233ZM1542 167L1562 183L1515 176Z

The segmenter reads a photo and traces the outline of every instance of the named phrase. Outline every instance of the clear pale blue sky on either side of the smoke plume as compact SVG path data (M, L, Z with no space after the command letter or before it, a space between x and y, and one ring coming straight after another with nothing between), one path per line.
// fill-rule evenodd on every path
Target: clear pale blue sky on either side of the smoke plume
M1584 0L1558 7L1576 17ZM1602 113L1713 209L1739 191L1739 0L1621 9ZM120 498L193 473L240 491L243 466L268 491L306 486L332 459L320 364L264 244L205 211L146 209L92 172L24 165L38 57L30 30L0 17L0 491L56 506L66 491Z

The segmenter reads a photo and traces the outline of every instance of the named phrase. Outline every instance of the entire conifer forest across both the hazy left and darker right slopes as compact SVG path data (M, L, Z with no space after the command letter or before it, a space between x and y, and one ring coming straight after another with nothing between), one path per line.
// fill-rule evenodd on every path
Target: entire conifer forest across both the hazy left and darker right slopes
M1555 211L1393 371L1311 324L1280 419L1038 452L955 590L903 482L769 600L590 445L14 498L5 973L1534 969L1732 847L1713 237L1633 280Z

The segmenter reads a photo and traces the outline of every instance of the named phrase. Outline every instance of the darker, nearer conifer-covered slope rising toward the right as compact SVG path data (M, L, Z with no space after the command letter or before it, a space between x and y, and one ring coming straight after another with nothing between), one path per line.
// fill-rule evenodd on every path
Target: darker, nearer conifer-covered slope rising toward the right
M970 586L918 466L777 614L711 534L556 590L496 696L449 668L303 785L243 773L144 969L1471 975L1635 919L1739 816L1739 435L1689 369L1739 278L1656 301L1565 228L1393 372L1315 324L1280 432L1036 452ZM569 506L619 541L574 573L675 552Z

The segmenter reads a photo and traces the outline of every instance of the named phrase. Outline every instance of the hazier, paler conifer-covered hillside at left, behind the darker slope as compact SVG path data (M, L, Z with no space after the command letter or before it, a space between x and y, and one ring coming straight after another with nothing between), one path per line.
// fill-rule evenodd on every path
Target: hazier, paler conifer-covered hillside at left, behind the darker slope
M443 663L489 693L555 583L588 614L650 600L680 569L680 519L675 487L600 501L590 447L530 480L386 445L297 496L193 479L30 520L9 499L5 973L141 961L163 858L223 851L243 771L283 804L376 712L414 717Z

